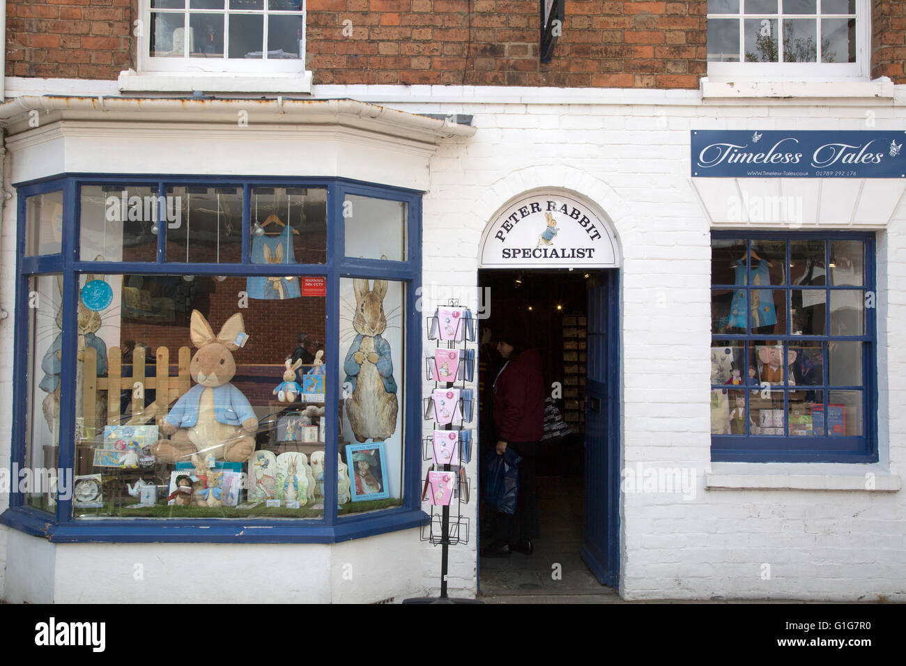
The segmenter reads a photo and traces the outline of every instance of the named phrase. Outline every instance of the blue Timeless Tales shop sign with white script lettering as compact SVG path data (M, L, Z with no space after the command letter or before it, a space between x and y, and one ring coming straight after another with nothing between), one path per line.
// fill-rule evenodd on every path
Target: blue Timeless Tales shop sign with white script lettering
M906 132L692 130L697 178L906 178Z

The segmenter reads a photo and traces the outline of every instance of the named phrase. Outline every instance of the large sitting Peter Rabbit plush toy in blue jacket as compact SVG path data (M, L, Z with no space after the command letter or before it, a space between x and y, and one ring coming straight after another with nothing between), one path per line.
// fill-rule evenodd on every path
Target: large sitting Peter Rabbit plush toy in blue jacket
M258 420L246 396L229 383L236 374L233 353L245 333L242 314L226 320L217 336L198 310L192 311L190 333L198 352L189 372L198 381L169 410L153 453L159 460L175 463L195 452L234 462L245 462L255 449L252 433Z

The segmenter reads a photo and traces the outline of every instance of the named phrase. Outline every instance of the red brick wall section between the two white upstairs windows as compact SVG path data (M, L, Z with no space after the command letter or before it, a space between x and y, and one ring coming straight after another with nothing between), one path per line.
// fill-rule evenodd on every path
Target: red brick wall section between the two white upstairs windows
M315 83L697 88L706 7L567 1L541 64L537 0L308 0L307 50Z

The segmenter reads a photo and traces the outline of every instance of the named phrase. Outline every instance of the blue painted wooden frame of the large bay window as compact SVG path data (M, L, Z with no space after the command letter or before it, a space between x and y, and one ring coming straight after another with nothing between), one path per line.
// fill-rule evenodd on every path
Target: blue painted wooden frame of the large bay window
M89 185L150 185L162 197L166 188L241 187L243 188L242 260L232 264L197 264L166 262L166 229L160 225L158 253L155 262L95 262L79 258L79 195ZM34 275L63 274L63 348L74 350L75 332L66 322L75 321L78 299L78 277L92 274L191 274L191 275L285 275L286 265L270 268L251 262L251 188L292 187L327 189L327 259L325 264L294 265L297 275L323 275L327 280L326 303L328 349L339 350L340 279L383 278L405 284L403 351L405 358L403 391L403 505L380 511L337 516L336 509L325 510L321 519L280 518L102 518L86 520L72 517L72 500L59 499L56 516L24 505L24 495L11 484L9 508L0 515L0 523L27 534L43 536L57 543L70 542L209 542L209 543L336 543L386 532L420 526L427 517L421 510L419 476L421 472L421 422L419 420L419 368L421 358L421 322L416 311L416 295L421 280L421 196L423 192L407 188L361 182L342 178L286 178L205 176L179 174L92 174L65 173L53 178L15 184L17 192L16 288L14 321L13 428L11 465L24 467L26 368L28 340L28 281ZM25 256L25 205L29 197L63 190L63 251L60 255ZM344 256L344 220L342 201L346 195L391 199L407 204L407 252L405 261L358 259ZM69 314L69 316L66 316ZM338 361L337 361L338 362ZM75 353L63 357L61 383L74 386ZM328 392L325 404L325 457L335 460L338 451L336 425L339 422L339 395ZM58 467L72 469L75 401L60 406L60 449ZM66 444L68 442L68 444ZM325 507L336 507L337 466L325 465ZM251 529L250 529L251 528Z

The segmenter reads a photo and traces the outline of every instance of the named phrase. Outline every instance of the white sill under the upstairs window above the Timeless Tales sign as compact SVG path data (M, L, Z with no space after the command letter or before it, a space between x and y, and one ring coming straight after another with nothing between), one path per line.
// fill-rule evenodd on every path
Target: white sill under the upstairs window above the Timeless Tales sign
M704 100L750 99L859 99L892 100L893 82L886 76L868 81L764 80L746 77L703 77L701 96Z

